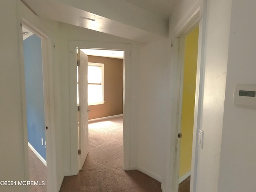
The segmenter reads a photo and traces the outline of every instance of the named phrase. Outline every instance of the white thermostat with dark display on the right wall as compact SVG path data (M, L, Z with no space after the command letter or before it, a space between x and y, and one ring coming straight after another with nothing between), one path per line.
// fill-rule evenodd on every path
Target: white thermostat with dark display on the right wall
M237 85L233 98L235 106L256 108L256 85Z

